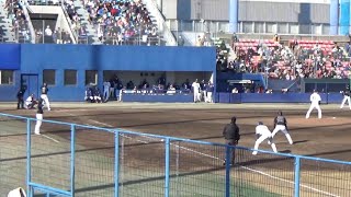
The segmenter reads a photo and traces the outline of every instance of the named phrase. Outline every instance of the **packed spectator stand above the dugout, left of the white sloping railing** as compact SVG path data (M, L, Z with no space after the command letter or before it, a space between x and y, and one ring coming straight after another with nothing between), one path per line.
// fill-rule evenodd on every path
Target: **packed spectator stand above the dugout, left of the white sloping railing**
M99 39L104 44L159 44L157 26L141 1L84 0L83 4L89 12L89 21L97 27Z

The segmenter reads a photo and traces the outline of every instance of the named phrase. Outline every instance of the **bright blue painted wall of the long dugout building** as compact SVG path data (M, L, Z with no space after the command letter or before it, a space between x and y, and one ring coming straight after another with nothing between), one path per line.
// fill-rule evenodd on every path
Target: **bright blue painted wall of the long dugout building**
M45 69L56 70L55 85L48 86L50 101L82 101L86 70L98 71L101 88L103 70L216 72L215 47L11 44L0 45L0 70L15 71L14 84L0 85L0 101L15 101L23 73L37 74L42 84ZM67 69L77 70L76 85L64 84Z

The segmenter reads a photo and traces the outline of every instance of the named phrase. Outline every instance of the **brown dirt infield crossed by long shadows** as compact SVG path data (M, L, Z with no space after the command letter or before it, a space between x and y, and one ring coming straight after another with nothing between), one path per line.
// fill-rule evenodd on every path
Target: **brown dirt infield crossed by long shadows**
M13 105L14 106L14 105ZM23 115L34 117L35 111L16 111L14 107L9 106L7 104L0 104L0 109L3 113ZM288 121L290 134L295 142L295 144L291 146L287 143L284 135L278 134L275 137L276 148L279 151L294 153L294 154L303 154L318 158L327 158L327 159L336 159L350 161L350 151L349 148L351 140L351 119L349 118L351 111L348 109L339 109L337 105L322 105L322 119L316 118L316 113L312 115L309 119L305 119L305 113L308 108L308 105L268 105L268 104L250 104L250 105L226 105L226 104L139 104L139 103L106 103L106 104L86 104L86 103L53 103L53 111L45 112L44 118L77 123L82 125L92 125L98 127L109 127L109 128L123 128L126 130L138 131L138 132L147 132L147 134L156 134L162 136L172 136L195 140L205 140L212 142L223 142L222 131L225 124L229 123L231 116L237 117L237 124L240 127L241 140L239 144L241 147L253 147L254 143L254 126L260 120L265 123L269 128L273 129L273 117L276 115L278 109L283 109L284 115ZM49 134L50 136L56 136L60 140L66 139L69 141L69 132L67 128L59 128L50 124L43 124L43 134ZM109 135L97 135L94 132L84 132L80 134L80 144L83 144L86 148L101 148L104 151L105 155L110 158L113 157L111 151L113 151L113 138ZM95 140L92 141L91 139ZM127 167L141 167L141 166L152 166L162 167L160 163L162 160L162 142L159 139L137 139L131 138L134 140L126 140L125 143L138 144L138 149L125 148L126 155L133 155L134 161L128 161L133 163ZM147 143L143 144L147 140ZM103 143L102 143L102 142ZM110 147L109 147L110 146ZM189 150L196 150L203 154L211 154L213 152L220 152L223 150L214 150L212 148L206 147L192 147L192 144L182 144L178 146L182 148L188 148ZM176 146L177 148L177 146ZM177 151L176 148L172 150ZM262 143L261 149L270 150L270 147L267 143ZM112 150L111 150L112 149ZM179 151L179 150L178 150ZM186 150L180 150L186 151ZM193 151L194 152L194 151ZM100 152L101 153L101 152ZM155 154L160 154L156 157ZM150 159L150 155L152 155ZM276 186L272 182L272 186L270 190L271 193L275 193L281 185L281 179L287 181L285 182L287 189L280 188L280 194L283 196L291 196L293 192L293 185L290 182L293 182L294 175L293 172L293 161L287 161L286 159L280 158L267 158L267 155L258 155L252 157L250 152L241 152L239 155L245 157L247 160L260 160L268 159L272 160L275 163L250 163L250 167L254 167L258 171L265 172L265 170L270 165L278 165L278 171L270 172L270 175L274 174L274 183L276 182ZM183 163L183 166L178 169L183 173L188 173L191 171L206 171L207 169L217 166L219 167L223 162L223 158L218 157L217 159L200 159L199 155L192 153L188 155L188 160L193 160L193 162ZM199 157L199 159L196 159ZM106 160L106 159L104 159ZM214 161L215 160L215 161ZM92 160L91 160L92 161ZM107 161L107 160L106 160ZM109 162L111 162L109 160ZM113 161L112 161L113 162ZM171 161L173 162L173 161ZM197 163L196 163L197 162ZM93 162L92 162L93 163ZM211 164L208 164L211 163ZM205 166L203 169L196 169L196 166ZM172 165L173 166L173 165ZM185 167L188 166L188 167ZM249 165L246 165L249 166ZM329 169L329 166L320 167L318 172L312 172L314 169L314 164L310 162L302 163L307 173L307 176L304 179L307 179L305 185L306 187L302 188L302 192L307 190L306 194L314 196L310 190L317 189L319 192L316 193L316 196L322 196L329 193L324 193L325 189L320 188L316 184L308 185L308 178L313 176L324 175L327 179L329 175L340 175L339 172L333 172L333 170ZM109 166L109 167L113 167ZM179 167L179 166L178 166ZM307 171L308 170L308 171ZM348 176L350 167L348 167ZM239 175L247 177L247 182L244 184L251 184L257 188L264 188L264 181L260 178L268 178L267 175L261 174L262 177L250 177L249 175L252 173L257 173L254 171L249 171L247 169L237 170L235 172L240 172ZM100 172L103 173L103 172ZM146 172L144 172L146 173ZM152 174L154 173L154 174ZM220 174L219 172L212 172L213 175ZM152 175L151 175L152 174ZM150 170L149 174L145 176L161 176L162 172L155 172L155 170ZM238 174L237 174L238 175ZM336 176L337 176L336 175ZM112 176L109 174L109 176ZM128 182L134 182L139 177L133 177L128 175L124 176ZM131 177L129 177L131 176ZM197 176L197 175L196 175ZM310 176L310 177L309 177ZM332 177L332 176L330 176ZM199 177L194 177L199 179ZM208 177L210 178L210 177ZM213 178L213 177L212 177ZM340 178L339 178L340 179ZM159 179L157 179L159 181ZM207 179L210 183L212 179ZM252 184L253 183L253 184ZM152 183L155 188L158 188L157 184ZM320 181L319 185L325 185L324 181ZM148 185L150 186L150 185ZM267 187L267 186L265 186ZM276 187L276 188L275 188ZM336 187L336 186L332 186ZM127 185L125 186L127 188ZM349 188L349 186L348 186ZM157 189L156 189L157 190ZM338 193L337 188L327 189L332 194ZM161 188L160 188L161 193ZM245 194L247 192L244 192ZM259 193L259 192L258 192ZM141 193L143 194L143 193ZM127 194L133 196L131 194ZM250 195L248 193L248 195ZM252 195L252 194L251 194ZM154 195L155 196L155 195ZM161 196L161 195L160 195ZM186 195L182 195L186 196ZM189 194L189 196L192 196ZM244 195L247 196L247 195ZM269 195L268 195L269 196ZM274 195L273 195L274 196ZM338 196L338 195L336 195ZM342 195L339 195L342 196Z

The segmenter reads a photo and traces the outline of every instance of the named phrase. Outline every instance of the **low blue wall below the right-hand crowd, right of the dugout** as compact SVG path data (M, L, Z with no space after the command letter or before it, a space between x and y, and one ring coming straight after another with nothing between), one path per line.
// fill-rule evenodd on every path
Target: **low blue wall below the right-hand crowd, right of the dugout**
M217 93L218 103L310 103L310 93L260 94L260 93ZM341 103L343 96L338 93L320 94L322 104Z

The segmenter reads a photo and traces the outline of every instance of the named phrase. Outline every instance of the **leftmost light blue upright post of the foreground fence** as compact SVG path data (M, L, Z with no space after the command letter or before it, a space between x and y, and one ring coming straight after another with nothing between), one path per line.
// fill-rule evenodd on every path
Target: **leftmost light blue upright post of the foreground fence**
M30 186L32 179L31 169L31 119L26 119L26 196L32 197L32 187Z

